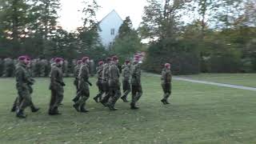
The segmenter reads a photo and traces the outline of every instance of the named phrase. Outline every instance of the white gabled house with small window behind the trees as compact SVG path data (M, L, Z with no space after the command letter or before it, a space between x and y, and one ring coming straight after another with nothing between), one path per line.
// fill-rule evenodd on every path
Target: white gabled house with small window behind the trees
M103 46L109 47L113 44L114 38L118 35L118 30L122 25L122 22L122 18L115 10L112 10L105 18L102 18L99 22L101 30L98 33Z

